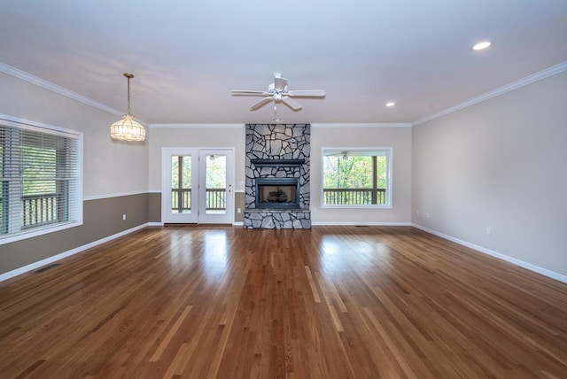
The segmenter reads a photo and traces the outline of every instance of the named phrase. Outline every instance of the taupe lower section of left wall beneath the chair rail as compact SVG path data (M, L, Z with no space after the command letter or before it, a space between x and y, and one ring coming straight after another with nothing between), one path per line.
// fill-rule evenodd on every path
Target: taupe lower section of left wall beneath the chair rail
M84 201L82 226L0 245L0 274L144 225L148 204L147 193Z

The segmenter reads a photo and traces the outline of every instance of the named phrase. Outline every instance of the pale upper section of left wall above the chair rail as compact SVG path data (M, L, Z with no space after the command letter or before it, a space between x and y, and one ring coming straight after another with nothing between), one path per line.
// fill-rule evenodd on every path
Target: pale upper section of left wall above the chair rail
M85 198L147 192L147 140L111 140L110 125L119 116L2 72L0 114L81 131Z

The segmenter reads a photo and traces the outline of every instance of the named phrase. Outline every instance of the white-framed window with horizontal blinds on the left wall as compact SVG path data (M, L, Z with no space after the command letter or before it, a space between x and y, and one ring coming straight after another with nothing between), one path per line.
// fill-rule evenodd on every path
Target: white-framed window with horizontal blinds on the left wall
M82 223L82 135L0 120L0 244Z

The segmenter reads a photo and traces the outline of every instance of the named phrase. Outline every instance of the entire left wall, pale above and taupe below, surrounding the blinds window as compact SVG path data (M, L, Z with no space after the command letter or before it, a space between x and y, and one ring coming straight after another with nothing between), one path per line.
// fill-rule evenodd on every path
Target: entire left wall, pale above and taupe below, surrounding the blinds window
M0 274L148 222L149 143L112 140L109 127L120 115L9 73L0 73L0 89L0 115L7 120L82 133L82 189L90 198L83 202L82 226L0 244ZM150 128L146 132L149 140Z

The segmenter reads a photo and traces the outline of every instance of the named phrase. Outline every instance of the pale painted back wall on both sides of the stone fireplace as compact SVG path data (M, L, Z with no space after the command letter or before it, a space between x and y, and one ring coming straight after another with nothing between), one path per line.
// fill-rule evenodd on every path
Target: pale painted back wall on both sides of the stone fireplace
M395 126L394 126L395 125ZM235 185L244 191L245 128L191 125L151 128L150 189L161 190L161 150L165 147L234 148ZM322 148L392 147L392 209L321 208ZM411 218L411 128L409 124L316 124L311 129L313 222L324 224L409 224Z

